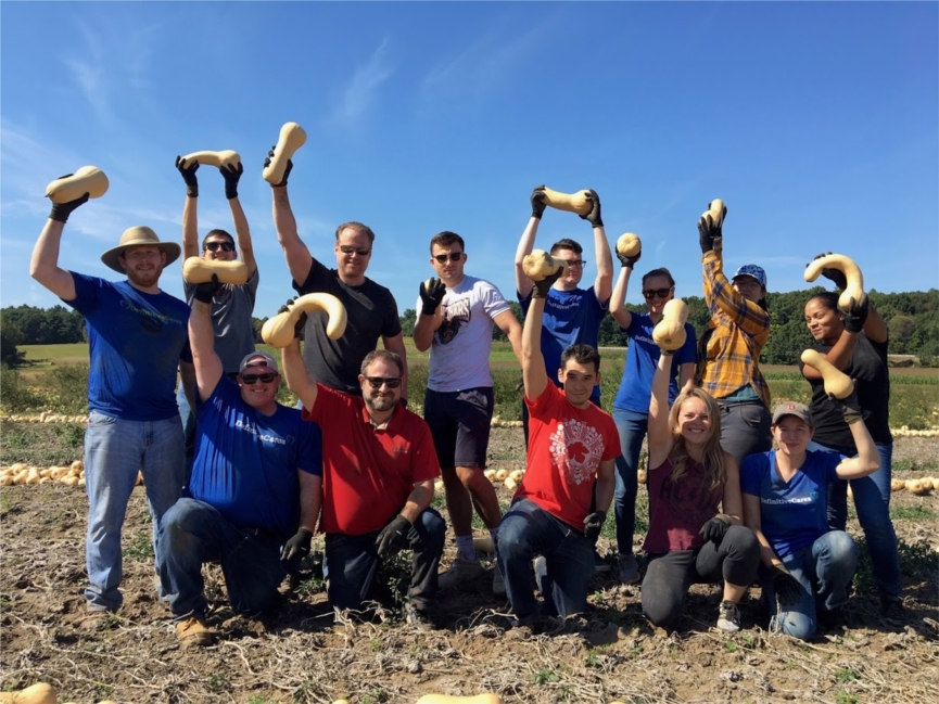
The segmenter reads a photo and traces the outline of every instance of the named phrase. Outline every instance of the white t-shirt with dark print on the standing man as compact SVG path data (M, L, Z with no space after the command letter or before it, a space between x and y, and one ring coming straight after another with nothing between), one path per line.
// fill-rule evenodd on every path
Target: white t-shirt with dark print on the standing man
M465 276L456 286L447 289L443 324L433 334L430 348L428 388L458 392L492 386L493 319L506 310L510 310L508 302L488 281Z

